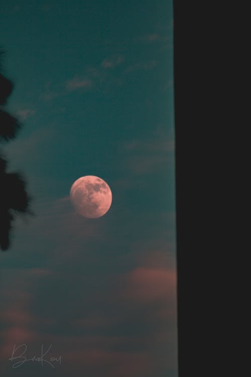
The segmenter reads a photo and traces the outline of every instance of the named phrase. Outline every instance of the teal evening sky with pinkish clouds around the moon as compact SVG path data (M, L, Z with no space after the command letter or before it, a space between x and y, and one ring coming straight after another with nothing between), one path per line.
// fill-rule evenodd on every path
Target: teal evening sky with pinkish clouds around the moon
M35 213L0 253L0 371L177 377L172 1L8 0L0 25L23 124L1 150ZM97 219L69 199L85 175Z

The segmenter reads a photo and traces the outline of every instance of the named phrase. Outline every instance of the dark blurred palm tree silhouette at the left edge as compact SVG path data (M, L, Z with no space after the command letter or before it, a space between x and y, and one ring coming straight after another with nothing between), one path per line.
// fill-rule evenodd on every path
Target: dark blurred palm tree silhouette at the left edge
M0 51L0 142L14 139L21 128L18 119L3 110L11 95L14 84L6 78L2 70ZM8 172L8 162L0 155L0 248L10 247L10 234L16 217L20 214L33 215L30 210L31 197L26 192L26 182L19 172Z

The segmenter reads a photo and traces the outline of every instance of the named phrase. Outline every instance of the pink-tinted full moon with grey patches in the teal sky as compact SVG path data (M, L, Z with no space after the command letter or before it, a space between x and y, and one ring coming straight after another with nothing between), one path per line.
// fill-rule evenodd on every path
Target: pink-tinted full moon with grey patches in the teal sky
M71 186L70 200L80 215L95 219L109 210L112 195L110 187L103 179L85 175Z

